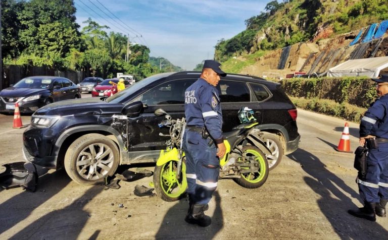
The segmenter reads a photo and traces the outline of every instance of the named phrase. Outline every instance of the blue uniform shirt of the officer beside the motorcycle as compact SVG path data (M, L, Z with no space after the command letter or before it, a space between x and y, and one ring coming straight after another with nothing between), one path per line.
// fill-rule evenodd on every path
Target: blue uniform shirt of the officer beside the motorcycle
M216 143L222 143L222 112L217 89L199 78L184 92L187 126L206 127Z

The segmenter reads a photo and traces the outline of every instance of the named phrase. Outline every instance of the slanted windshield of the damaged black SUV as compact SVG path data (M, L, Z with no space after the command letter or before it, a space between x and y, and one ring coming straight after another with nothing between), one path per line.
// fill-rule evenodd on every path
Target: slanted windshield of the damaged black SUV
M110 96L107 99L107 102L114 102L118 103L124 98L128 97L128 95L135 93L143 88L145 88L147 85L151 84L152 82L158 81L159 79L165 78L170 76L173 73L161 73L161 74L156 74L148 78L144 78L143 80L137 82L134 85L130 85L127 88L125 88L123 91L120 91L116 93L113 96Z

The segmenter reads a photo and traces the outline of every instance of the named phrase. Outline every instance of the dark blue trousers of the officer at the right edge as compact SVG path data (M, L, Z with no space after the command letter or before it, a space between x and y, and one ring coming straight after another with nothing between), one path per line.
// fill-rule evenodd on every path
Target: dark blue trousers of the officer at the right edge
M378 203L388 199L388 144L370 149L364 179L359 179L360 197L364 202Z

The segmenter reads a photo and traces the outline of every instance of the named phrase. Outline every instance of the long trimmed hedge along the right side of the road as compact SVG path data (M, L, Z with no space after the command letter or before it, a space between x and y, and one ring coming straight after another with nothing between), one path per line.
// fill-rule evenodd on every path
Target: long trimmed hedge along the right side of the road
M279 83L297 107L356 123L377 98L374 82L366 77L292 78Z

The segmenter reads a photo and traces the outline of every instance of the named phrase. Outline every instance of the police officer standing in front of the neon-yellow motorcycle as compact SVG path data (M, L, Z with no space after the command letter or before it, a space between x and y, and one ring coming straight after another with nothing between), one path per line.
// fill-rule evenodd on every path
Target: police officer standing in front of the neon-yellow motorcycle
M226 73L221 64L206 60L200 78L185 91L186 131L183 150L189 209L185 221L206 227L211 218L204 214L217 188L220 160L226 147L222 137L222 112L216 86Z

